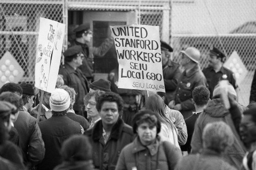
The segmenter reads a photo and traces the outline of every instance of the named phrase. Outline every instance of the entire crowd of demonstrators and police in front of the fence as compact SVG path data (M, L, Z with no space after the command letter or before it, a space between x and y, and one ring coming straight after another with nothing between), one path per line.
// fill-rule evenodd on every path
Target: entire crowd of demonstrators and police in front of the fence
M93 81L93 54L113 41L90 48L90 29L74 31L54 91L26 82L1 87L1 169L256 169L256 103L237 102L221 50L213 47L201 70L197 48L182 50L178 64L161 41L166 92L143 96L119 89L117 70Z

